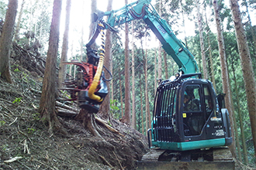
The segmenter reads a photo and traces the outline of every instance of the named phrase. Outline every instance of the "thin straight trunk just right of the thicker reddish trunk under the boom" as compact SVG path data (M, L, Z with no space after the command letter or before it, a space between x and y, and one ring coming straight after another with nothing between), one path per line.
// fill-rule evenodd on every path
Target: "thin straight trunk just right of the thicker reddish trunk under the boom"
M133 93L133 98L132 98L132 127L136 129L136 114L135 114L135 70L134 70L134 42L133 42L133 21L132 21L132 93Z

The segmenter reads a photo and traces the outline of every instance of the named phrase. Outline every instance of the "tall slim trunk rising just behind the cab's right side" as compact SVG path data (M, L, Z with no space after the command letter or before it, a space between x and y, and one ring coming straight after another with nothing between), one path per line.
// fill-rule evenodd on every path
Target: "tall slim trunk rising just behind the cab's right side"
M229 76L227 73L227 71L228 71L227 70L227 59L226 59L225 46L224 46L224 40L223 40L223 32L222 32L221 24L220 24L219 7L218 7L216 0L213 0L213 7L214 7L214 15L215 15L215 21L216 21L218 46L219 46L223 93L226 93L225 103L226 103L227 110L230 113L230 127L232 129L231 133L233 136L233 141L232 141L232 144L230 145L230 151L231 151L233 157L237 158L236 149L235 149L236 141L235 141L235 135L234 135L234 120L233 120L234 116L233 116L233 110L231 107L230 83L229 83Z

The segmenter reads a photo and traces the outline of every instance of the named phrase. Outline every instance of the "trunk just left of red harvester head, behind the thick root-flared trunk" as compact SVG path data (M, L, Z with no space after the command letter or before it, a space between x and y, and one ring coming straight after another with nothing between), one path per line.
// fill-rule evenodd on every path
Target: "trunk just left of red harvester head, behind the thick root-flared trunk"
M59 78L58 78L58 87L63 87L63 82L66 79L67 65L63 62L67 61L67 50L68 50L68 32L69 32L69 21L71 14L71 0L67 0L66 5L66 21L65 21L65 30L63 35L62 42L62 51L61 51L61 63L59 66Z

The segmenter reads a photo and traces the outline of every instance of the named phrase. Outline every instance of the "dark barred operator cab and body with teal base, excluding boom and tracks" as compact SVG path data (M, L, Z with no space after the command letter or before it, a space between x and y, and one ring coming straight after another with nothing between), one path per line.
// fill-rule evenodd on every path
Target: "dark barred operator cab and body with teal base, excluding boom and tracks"
M185 151L230 145L227 109L220 111L213 84L195 76L164 80L157 88L151 130L154 147Z

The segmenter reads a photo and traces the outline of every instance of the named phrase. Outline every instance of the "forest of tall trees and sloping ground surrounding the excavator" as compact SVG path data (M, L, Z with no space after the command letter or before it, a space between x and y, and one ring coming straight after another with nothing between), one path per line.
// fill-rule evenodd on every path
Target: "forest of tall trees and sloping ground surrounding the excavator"
M118 8L131 2L119 1ZM0 169L133 169L148 151L157 82L180 68L142 19L116 26L117 32L104 30L109 93L98 113L80 109L63 84L78 78L78 66L65 62L88 60L93 14L99 8L116 10L118 3L0 2ZM248 169L255 167L256 1L151 4L195 56L203 79L213 83L216 94L225 93L232 156ZM98 39L92 47L100 54Z

